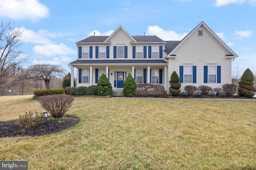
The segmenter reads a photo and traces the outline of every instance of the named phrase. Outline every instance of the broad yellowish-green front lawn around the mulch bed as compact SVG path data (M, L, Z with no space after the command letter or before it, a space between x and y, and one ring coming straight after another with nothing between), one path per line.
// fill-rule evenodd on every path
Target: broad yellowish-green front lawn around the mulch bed
M0 121L44 111L32 96L0 97ZM256 169L256 100L76 97L80 123L0 139L0 160L33 170Z

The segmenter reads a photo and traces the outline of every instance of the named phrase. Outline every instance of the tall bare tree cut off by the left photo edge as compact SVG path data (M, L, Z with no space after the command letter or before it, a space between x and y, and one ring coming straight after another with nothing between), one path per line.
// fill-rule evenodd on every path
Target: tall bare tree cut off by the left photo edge
M27 61L28 57L22 55L18 47L23 30L14 28L14 24L0 23L0 87L18 70L18 65Z

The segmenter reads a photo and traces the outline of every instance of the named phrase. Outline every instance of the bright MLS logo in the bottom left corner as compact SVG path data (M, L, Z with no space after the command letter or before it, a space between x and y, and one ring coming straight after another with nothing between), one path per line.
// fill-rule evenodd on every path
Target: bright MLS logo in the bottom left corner
M28 170L28 161L0 161L0 169Z

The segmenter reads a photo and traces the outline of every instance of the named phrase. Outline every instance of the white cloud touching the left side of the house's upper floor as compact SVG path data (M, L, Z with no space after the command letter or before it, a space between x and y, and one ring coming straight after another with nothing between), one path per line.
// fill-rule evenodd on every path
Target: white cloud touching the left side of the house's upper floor
M47 44L47 45L36 45L33 48L33 51L37 54L42 54L46 56L56 56L56 55L75 55L76 51L72 48L60 43L56 44Z

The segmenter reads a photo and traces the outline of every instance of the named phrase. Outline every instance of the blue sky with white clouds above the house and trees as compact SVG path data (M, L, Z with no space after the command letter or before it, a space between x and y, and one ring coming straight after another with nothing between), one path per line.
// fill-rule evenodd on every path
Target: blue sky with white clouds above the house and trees
M174 41L204 21L239 56L232 67L256 73L256 0L0 0L0 18L24 31L24 67L60 64L70 72L76 42L119 25Z

